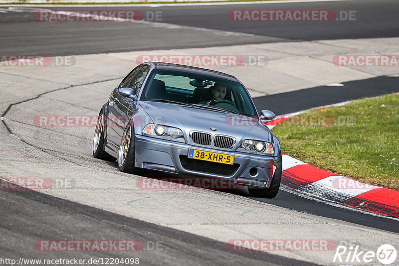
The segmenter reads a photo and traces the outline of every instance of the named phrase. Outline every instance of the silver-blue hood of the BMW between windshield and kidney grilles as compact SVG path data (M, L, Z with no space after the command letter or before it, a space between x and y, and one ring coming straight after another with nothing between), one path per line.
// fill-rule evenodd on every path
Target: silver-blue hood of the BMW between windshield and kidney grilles
M141 101L140 105L153 123L181 129L186 140L189 140L191 131L201 131L233 136L236 146L244 139L273 141L270 130L259 120L250 117L161 102ZM216 128L216 131L210 128Z

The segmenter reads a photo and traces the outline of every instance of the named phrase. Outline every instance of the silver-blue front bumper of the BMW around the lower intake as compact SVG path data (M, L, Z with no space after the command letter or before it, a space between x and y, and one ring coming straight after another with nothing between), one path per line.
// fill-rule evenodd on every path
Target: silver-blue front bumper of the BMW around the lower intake
M197 159L187 159L190 148L234 155L234 168L229 169L232 173L211 173L200 171L199 167L194 167L197 168L195 170L189 169L190 166L188 165L190 163L188 164L187 161L199 161ZM235 179L238 184L267 188L270 186L277 160L278 157L274 156L217 150L156 137L135 135L135 166L174 174ZM182 161L186 167L182 165ZM206 162L204 163L206 164ZM212 165L214 164L216 163ZM219 163L217 165L228 167ZM217 171L217 169L215 170Z

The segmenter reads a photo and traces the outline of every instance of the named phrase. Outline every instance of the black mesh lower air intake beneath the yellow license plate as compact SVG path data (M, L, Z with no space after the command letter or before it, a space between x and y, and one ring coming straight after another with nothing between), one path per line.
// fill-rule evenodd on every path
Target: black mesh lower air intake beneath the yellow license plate
M187 157L186 155L180 155L180 162L182 163L183 168L187 170L225 176L232 175L235 171L237 171L238 167L240 166L238 163L234 163L233 165L231 165L192 159Z

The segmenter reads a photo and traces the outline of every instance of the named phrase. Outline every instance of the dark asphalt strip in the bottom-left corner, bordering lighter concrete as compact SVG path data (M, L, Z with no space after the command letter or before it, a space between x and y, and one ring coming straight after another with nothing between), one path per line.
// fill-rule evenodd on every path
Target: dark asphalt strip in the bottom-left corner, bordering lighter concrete
M226 243L31 190L2 190L0 198L1 258L139 258L140 265L313 265L265 252L230 251ZM43 254L32 249L37 239L65 236L70 240L140 239L143 250L127 255L114 251Z

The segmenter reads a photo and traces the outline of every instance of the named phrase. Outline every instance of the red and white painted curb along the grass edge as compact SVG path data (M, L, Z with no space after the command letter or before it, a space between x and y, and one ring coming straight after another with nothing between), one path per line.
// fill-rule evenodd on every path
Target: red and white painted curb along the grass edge
M349 102L330 106L340 106ZM330 106L318 107L323 109ZM307 112L279 116L267 123L273 128L285 119ZM281 184L305 195L339 205L399 219L399 191L361 183L282 154Z

